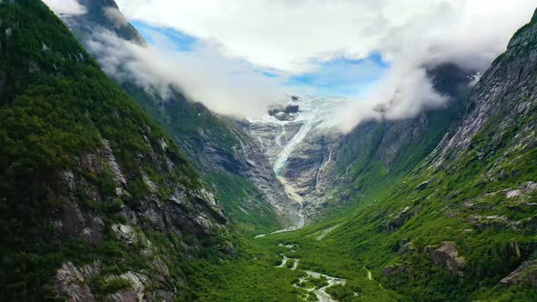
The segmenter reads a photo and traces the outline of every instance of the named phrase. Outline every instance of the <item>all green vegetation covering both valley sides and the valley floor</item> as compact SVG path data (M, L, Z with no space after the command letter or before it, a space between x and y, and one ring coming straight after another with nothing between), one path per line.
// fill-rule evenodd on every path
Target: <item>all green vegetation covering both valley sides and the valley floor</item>
M334 198L348 201L348 211L331 212L324 222L289 233L251 239L255 232L279 227L273 211L243 177L205 171L234 222L230 237L140 227L151 225L147 216L133 230L137 240L128 243L111 228L131 218L120 215L123 208L141 208L146 196L168 200L170 183L204 186L174 142L201 152L201 126L215 131L223 154L232 155L236 137L203 106L184 100L151 104L154 99L146 92L127 85L129 94L174 136L169 138L38 1L1 3L0 20L0 300L60 299L51 284L58 267L66 261L81 267L96 259L102 271L87 285L97 298L133 287L117 276L147 273L161 261L169 274L165 287L177 289L177 299L186 301L314 300L304 288L325 287L327 278L308 277L304 270L345 279L344 286L327 288L340 301L537 299L531 282L499 285L523 261L535 259L537 250L537 192L506 196L537 179L535 147L519 144L522 130L534 133L534 106L505 123L513 106L496 100L494 115L471 145L438 165L426 156L453 116L429 116L433 130L403 146L390 165L374 156L386 125L373 126L363 156L354 156L356 146L344 146L340 154L340 170L350 166L350 175L356 176L334 192ZM508 59L502 55L497 63ZM162 116L158 106L184 110ZM177 119L184 123L170 123ZM113 167L91 169L92 161L86 160L107 144L129 179L121 196ZM159 163L168 159L171 171L151 165L153 156ZM79 180L73 188L64 187L66 172ZM62 215L75 211L69 206L101 219L106 226L102 237L77 237L58 227ZM336 225L316 240L315 234ZM433 263L431 250L444 241L454 242L464 258L464 277ZM292 244L292 251L282 244ZM277 267L282 254L292 259ZM289 269L296 261L299 267ZM161 287L150 279L146 289Z

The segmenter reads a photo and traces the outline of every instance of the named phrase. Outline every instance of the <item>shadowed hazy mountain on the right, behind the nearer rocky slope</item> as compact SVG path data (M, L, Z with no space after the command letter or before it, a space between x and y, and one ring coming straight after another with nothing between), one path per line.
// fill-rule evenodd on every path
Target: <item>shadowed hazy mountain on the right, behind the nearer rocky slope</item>
M471 90L474 70L442 64L428 68L435 90L448 103L418 116L360 123L343 136L333 155L334 168L327 187L346 187L327 200L329 208L349 205L352 196L374 192L399 181L438 146L451 124L460 117Z

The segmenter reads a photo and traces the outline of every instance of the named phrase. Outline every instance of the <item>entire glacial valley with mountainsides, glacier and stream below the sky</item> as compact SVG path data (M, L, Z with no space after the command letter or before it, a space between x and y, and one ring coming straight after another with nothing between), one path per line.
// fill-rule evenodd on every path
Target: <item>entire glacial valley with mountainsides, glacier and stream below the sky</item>
M76 5L0 1L0 300L537 300L537 11L344 131L366 100L218 113L114 0Z

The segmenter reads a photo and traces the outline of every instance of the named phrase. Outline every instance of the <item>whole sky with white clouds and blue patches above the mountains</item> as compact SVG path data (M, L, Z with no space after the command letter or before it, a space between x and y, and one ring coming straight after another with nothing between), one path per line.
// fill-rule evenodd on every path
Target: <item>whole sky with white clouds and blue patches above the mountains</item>
M76 0L46 3L56 13L84 13ZM136 57L138 69L183 87L223 114L264 112L283 93L349 96L360 100L339 116L350 129L379 118L379 106L387 108L386 117L400 119L445 105L449 100L434 91L426 69L454 63L485 71L537 3L117 0L117 5L150 50L98 35L95 46L106 63L117 61L117 50L130 49L123 55ZM113 76L115 71L109 68Z

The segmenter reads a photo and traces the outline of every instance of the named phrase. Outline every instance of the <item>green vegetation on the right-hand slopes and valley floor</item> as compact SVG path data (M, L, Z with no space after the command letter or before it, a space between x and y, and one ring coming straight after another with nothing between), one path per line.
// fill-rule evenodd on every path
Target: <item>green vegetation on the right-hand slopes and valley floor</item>
M502 55L497 64L508 64L506 60L511 59ZM347 280L345 286L327 289L341 301L534 300L534 270L524 273L528 279L520 284L500 284L503 277L536 256L537 194L525 192L524 187L537 179L533 136L537 112L535 106L526 105L523 116L512 113L528 97L534 96L521 89L509 96L511 103L495 100L498 106L470 146L451 152L444 161L426 156L449 126L446 121L439 122L444 130L421 136L416 144L403 148L390 166L371 160L374 156L368 152L352 162L353 148L345 146L342 155L349 156L347 164L352 164L348 173L357 177L350 188L342 186L346 191L335 190L334 199L348 200L349 209L329 213L324 222L294 232L255 239L250 248L272 255L273 267L266 267L266 274L271 274L280 263L278 256L290 253L279 244L295 245L296 252L286 255L299 259L296 273L307 269ZM379 144L375 138L385 129L380 124L371 131L370 146L365 149L373 152ZM427 151L417 152L420 148ZM508 197L513 190L524 193ZM336 225L327 237L315 240L319 231ZM461 267L434 263L431 251L445 241L454 242ZM247 287L248 268L242 268L250 276L245 278ZM304 276L285 277L290 284L299 284ZM277 286L273 279L264 282L274 285L266 287L263 295L271 297L271 288ZM314 282L308 279L304 286L315 287ZM303 290L286 295L313 298Z

